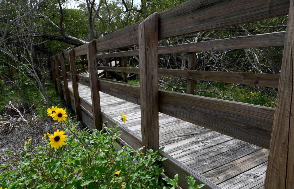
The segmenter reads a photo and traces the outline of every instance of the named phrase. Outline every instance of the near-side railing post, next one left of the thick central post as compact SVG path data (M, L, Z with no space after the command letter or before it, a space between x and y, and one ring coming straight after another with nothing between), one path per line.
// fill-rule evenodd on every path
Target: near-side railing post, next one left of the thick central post
M102 115L100 108L100 94L97 72L96 41L93 40L87 44L87 57L90 76L90 89L93 109L94 129L102 129Z

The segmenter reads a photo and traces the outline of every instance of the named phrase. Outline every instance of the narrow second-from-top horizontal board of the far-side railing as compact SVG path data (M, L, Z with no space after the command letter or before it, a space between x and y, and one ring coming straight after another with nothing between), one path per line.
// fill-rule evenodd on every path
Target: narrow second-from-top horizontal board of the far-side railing
M119 71L139 74L140 68L134 67L107 67L97 66L98 70ZM203 81L214 81L224 83L237 83L244 85L258 85L264 87L278 87L279 74L260 74L244 72L224 72L224 71L197 71L197 70L174 70L158 69L158 75L168 77L178 77L183 79L196 79Z

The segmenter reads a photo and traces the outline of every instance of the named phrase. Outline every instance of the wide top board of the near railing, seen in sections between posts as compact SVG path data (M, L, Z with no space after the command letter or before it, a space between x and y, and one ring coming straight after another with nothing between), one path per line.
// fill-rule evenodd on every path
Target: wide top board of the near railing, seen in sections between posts
M190 0L158 13L159 39L286 15L289 4L289 0ZM96 39L97 52L138 44L139 23ZM74 50L76 56L85 55L87 45Z

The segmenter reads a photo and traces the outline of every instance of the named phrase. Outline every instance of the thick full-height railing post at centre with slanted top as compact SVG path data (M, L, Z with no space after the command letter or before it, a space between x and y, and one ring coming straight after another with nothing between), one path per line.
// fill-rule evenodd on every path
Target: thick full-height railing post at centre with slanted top
M158 131L158 16L151 14L139 24L139 67L142 143L159 149Z

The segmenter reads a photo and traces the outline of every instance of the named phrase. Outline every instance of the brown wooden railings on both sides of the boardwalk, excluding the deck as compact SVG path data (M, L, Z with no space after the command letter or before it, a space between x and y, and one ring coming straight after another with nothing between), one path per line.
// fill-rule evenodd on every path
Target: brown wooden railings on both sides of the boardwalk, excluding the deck
M293 132L289 126L293 125L292 119L289 118L292 106L290 86L292 86L293 75L291 56L294 29L293 10L293 0L291 3L290 0L190 0L162 13L154 13L142 22L129 25L88 44L53 56L51 66L55 89L59 89L60 97L66 99L67 106L75 110L77 120L85 122L86 125L92 125L92 128L95 129L101 129L104 121L108 121L110 125L115 124L112 118L101 112L99 91L140 105L142 138L122 125L119 127L122 140L134 148L146 146L148 149L158 150L158 112L162 112L270 149L265 188L288 188L294 184L292 174L294 155L288 149L288 145L293 145L293 139L289 137ZM288 13L287 32L158 47L158 40ZM138 50L97 55L97 52L134 44L139 44ZM281 76L278 74L195 71L195 62L193 62L195 52L273 47L284 44ZM178 52L189 52L188 70L158 69L158 54ZM87 60L75 61L77 56L84 55L87 56ZM127 56L139 56L139 68L126 67L125 57ZM122 57L123 67L97 66L97 58L114 57ZM66 72L68 64L65 64L65 59L67 58L71 72ZM76 69L76 64L83 64L86 61L88 67ZM90 77L77 75L85 70L89 70ZM124 82L99 78L97 70L123 72ZM140 74L140 86L126 83L126 73ZM189 94L158 90L158 75L187 79ZM72 91L68 89L67 79L72 80ZM279 87L276 114L275 108L193 95L195 79ZM79 96L78 83L90 87L92 105ZM163 152L162 155L168 157L168 160L162 163L165 174L173 177L179 173L181 187L187 187L185 175L191 174L198 183L207 184L205 188L219 188L168 154ZM275 162L275 159L278 163Z

